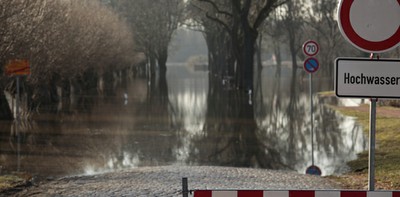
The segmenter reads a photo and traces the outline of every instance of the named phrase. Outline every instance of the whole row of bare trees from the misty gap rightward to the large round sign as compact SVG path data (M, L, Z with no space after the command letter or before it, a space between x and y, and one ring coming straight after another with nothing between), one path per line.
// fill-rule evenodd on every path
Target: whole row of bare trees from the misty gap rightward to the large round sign
M338 1L325 0L191 0L188 15L189 23L204 33L210 71L233 76L238 87L252 89L252 76L257 73L254 63L261 65L261 58L256 58L259 62L253 59L261 55L256 54L261 47L275 54L278 66L282 52L287 53L293 68L297 68L305 58L302 44L316 40L321 48L318 59L324 67L318 74L329 77L333 77L336 57L368 56L342 37L337 7ZM399 55L399 49L385 54Z

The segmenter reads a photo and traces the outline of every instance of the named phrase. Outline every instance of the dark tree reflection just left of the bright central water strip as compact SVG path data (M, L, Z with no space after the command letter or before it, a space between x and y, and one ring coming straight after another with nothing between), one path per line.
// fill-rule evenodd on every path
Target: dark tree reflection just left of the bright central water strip
M135 89L132 89L135 91ZM139 166L166 165L173 161L172 147L179 139L171 130L170 100L166 75L158 76L147 84L145 99L134 106L128 126L131 137L124 143L129 153L136 153ZM134 96L136 92L132 92Z

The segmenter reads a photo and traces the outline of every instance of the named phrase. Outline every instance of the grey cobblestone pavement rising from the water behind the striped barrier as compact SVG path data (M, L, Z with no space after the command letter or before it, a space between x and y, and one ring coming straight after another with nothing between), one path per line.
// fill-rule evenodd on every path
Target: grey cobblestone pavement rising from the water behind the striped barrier
M189 189L340 189L326 178L231 167L141 167L129 171L61 178L29 187L15 196L182 196Z

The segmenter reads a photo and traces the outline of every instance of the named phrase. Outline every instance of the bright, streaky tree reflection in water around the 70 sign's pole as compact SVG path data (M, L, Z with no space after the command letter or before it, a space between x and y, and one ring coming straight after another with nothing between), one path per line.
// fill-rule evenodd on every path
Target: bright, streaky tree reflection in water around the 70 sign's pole
M275 68L267 69L273 73ZM286 70L282 70L286 73L282 76L290 80L273 78L263 82L268 87L263 89L264 100L256 102L262 106L256 111L259 135L263 142L279 152L287 166L304 173L312 161L308 83ZM348 124L348 120L324 107L321 99L313 101L315 162L327 174L339 172L346 161L355 159L356 154L365 149L362 130L354 122L349 124L353 128L344 128L342 125Z

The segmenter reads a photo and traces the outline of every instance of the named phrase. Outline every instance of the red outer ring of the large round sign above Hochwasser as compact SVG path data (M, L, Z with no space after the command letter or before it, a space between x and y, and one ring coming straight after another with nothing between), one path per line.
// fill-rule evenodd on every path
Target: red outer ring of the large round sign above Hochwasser
M395 1L391 2L392 4L396 4ZM378 2L378 1L376 1ZM375 3L376 3L375 2ZM339 28L343 34L343 36L350 41L354 46L357 48L369 52L369 53L376 53L376 52L385 52L390 49L393 49L397 47L400 43L400 25L397 26L397 31L394 32L393 35L387 36L386 39L383 39L381 41L371 41L368 40L367 38L362 37L359 33L354 28L355 24L352 24L351 17L352 14L360 14L360 13L351 13L352 6L353 6L354 0L342 0L340 5L339 5ZM366 2L364 2L366 3ZM381 3L381 1L379 1ZM390 4L390 3L389 3ZM395 5L396 6L396 5ZM397 10L400 10L400 0L397 0ZM395 15L399 14L395 9ZM400 12L400 11L399 11ZM366 13L367 15L369 13ZM380 13L382 14L382 13ZM399 21L398 18L393 18L392 20L394 21ZM385 21L381 21L384 23ZM395 25L395 24L394 24ZM396 28L396 27L394 27Z

